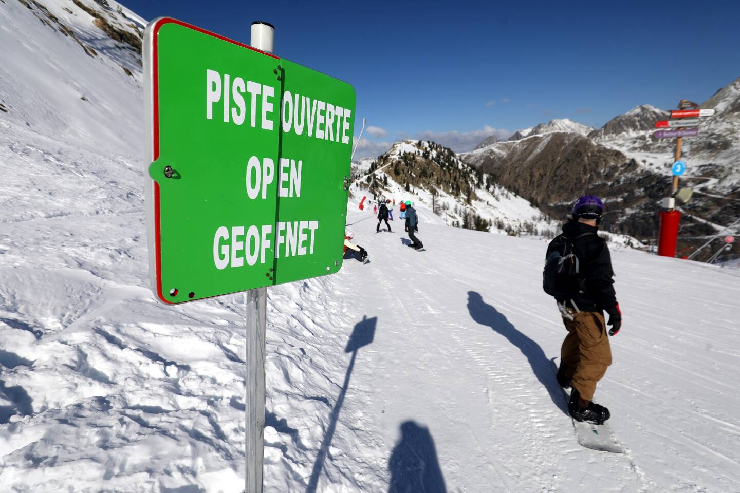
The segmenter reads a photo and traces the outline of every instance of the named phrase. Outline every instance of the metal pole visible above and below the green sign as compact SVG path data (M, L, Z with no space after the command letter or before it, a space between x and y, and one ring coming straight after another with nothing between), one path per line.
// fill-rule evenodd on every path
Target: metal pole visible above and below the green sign
M252 22L252 47L272 53L275 27L267 22ZM267 288L244 293L246 322L246 493L262 493L265 438L265 332Z

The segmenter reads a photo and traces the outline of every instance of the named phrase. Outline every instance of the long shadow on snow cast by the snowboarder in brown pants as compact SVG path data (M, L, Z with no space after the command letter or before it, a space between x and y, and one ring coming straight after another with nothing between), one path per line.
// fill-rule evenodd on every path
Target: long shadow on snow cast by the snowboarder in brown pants
M511 322L506 319L496 308L488 305L483 301L480 293L468 291L468 311L471 318L481 325L488 325L495 332L508 339L511 344L519 348L524 356L527 357L534 375L548 391L550 398L565 415L568 415L568 406L563 398L562 390L555 379L557 367L553 359L548 359L542 347L539 347L535 341L525 334L519 332Z

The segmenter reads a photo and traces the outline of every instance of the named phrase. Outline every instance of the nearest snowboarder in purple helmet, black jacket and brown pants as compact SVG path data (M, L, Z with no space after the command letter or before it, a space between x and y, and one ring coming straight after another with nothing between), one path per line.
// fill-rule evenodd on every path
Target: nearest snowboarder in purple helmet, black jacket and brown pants
M622 327L609 249L596 234L603 214L599 197L579 198L572 219L548 245L543 273L543 287L555 297L568 330L556 378L561 387L573 387L568 403L573 419L593 424L610 416L609 409L593 402L593 392L611 364L608 336ZM609 316L609 330L603 311Z

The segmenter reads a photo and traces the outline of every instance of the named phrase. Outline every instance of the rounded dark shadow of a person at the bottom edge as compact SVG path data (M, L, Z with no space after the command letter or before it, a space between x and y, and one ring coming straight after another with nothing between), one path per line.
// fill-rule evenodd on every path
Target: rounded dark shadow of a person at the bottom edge
M414 421L401 424L401 439L388 460L388 470L388 493L447 492L429 429Z

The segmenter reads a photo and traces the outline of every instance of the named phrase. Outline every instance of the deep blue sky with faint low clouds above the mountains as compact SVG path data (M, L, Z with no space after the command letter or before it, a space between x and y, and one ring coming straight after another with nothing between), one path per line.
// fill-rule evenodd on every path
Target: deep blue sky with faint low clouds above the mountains
M356 158L402 138L468 151L551 118L602 126L642 103L700 103L740 76L738 1L124 4L245 43L252 21L274 24L276 55L356 89L371 126Z

